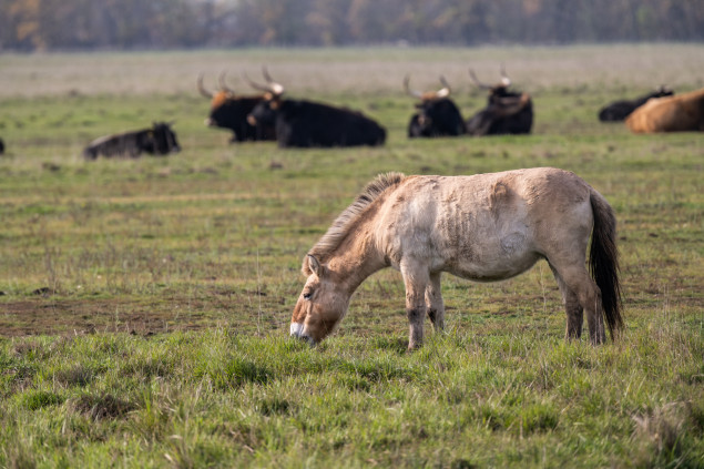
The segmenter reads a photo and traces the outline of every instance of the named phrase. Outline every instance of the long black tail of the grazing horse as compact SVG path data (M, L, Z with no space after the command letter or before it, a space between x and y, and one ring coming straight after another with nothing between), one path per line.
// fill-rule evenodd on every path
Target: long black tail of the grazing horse
M601 305L611 338L623 329L621 316L621 285L619 283L619 249L616 247L616 217L609 202L596 191L590 194L594 228L589 255L589 267L601 289Z

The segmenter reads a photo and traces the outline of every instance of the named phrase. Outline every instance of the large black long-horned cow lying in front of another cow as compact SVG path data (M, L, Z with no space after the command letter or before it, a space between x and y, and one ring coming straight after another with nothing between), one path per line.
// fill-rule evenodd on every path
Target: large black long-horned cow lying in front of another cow
M386 129L360 112L312 101L283 99L284 86L264 70L267 84L247 81L265 91L247 120L251 124L275 125L280 147L382 145Z

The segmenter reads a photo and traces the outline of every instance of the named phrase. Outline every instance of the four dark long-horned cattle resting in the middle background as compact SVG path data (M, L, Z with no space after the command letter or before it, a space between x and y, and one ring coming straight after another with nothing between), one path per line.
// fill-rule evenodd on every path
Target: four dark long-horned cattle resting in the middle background
M233 142L275 140L280 147L381 145L386 129L361 112L304 100L284 99L284 86L275 82L266 69L265 83L257 83L245 75L247 82L263 92L242 96L220 75L220 90L211 92L203 86L198 75L201 94L211 100L210 126L228 129ZM530 133L533 124L532 101L527 93L510 92L510 79L501 71L501 82L487 85L470 73L475 82L489 91L487 106L467 122L450 95L450 85L440 77L438 91L410 90L409 77L404 80L408 94L418 98L416 112L408 124L409 137L455 135L497 135Z

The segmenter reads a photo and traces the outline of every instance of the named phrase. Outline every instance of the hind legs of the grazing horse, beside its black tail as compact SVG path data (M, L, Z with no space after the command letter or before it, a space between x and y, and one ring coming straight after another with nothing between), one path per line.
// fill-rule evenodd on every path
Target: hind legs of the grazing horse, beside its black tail
M606 333L604 330L604 318L601 306L601 292L594 281L592 281L589 272L586 272L584 261L582 259L581 263L571 263L567 267L563 265L552 265L557 269L558 276L564 283L565 290L569 290L570 293L565 296L565 298L572 298L575 296L580 306L586 313L589 336L592 344L603 344L606 340ZM573 299L571 299L571 303L573 304ZM572 324L575 325L578 322L577 317L572 319L572 316L570 316L570 313L575 310L574 306L571 307L572 309L569 309L565 299L565 309L568 310L568 336L570 334L570 323L572 322ZM579 319L579 322L581 328L581 319Z

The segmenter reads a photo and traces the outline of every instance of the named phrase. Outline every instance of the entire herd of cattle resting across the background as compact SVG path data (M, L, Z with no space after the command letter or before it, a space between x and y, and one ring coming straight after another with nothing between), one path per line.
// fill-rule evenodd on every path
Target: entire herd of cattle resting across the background
M533 124L533 104L528 93L510 91L511 80L501 69L501 80L484 84L469 74L477 86L488 92L487 105L469 118L462 118L450 99L450 85L440 77L437 91L410 89L410 78L404 80L407 94L418 99L417 112L408 123L409 137L459 135L528 134ZM284 98L284 86L263 69L265 82L258 83L245 74L256 95L239 95L227 86L225 73L220 89L207 91L203 74L197 77L197 90L211 100L208 126L232 131L232 142L276 141L280 147L329 147L382 145L386 129L359 111L307 100ZM602 122L625 121L634 133L704 131L704 89L674 95L661 86L653 93L630 101L616 101L599 112ZM83 151L86 160L98 156L136 157L142 153L165 155L180 151L172 123L155 122L152 128L102 136ZM4 150L0 140L0 153Z

